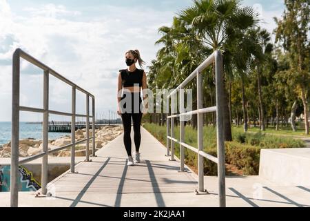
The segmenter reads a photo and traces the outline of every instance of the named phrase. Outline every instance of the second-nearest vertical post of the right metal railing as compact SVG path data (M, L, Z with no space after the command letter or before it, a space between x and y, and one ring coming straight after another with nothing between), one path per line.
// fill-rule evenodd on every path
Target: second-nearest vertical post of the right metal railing
M197 110L203 108L203 76L197 72ZM203 151L203 114L197 113L197 128L198 128L198 151ZM203 161L204 157L198 153L198 190L204 191L203 184Z

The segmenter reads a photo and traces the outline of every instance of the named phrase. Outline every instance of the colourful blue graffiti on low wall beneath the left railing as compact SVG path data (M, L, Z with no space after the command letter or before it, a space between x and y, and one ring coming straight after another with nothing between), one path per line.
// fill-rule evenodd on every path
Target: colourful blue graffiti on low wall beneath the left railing
M19 191L37 191L41 188L41 184L24 166L19 166L18 181ZM10 166L0 165L0 192L8 191L10 191Z

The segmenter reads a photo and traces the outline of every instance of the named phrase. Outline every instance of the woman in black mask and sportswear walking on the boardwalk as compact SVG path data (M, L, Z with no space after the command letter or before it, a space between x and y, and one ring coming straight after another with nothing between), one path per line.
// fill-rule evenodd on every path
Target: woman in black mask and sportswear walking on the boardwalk
M147 105L143 90L147 89L147 77L143 69L136 68L136 62L142 68L145 62L141 59L138 50L129 50L125 52L125 62L127 69L120 70L118 73L118 89L117 89L117 113L121 115L124 126L124 145L128 155L128 166L140 162L140 144L141 144L141 119L146 113ZM123 88L123 91L122 91ZM141 90L143 103L141 98ZM122 93L123 92L123 93ZM141 105L142 103L142 105ZM132 140L130 137L132 121L134 124L134 144L136 146L136 153L132 157Z

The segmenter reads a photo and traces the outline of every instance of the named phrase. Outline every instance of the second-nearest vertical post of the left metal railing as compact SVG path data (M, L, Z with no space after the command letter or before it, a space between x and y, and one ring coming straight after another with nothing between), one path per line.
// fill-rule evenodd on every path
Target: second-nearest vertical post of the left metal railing
M45 155L42 157L41 168L41 193L46 195L48 193L48 113L49 113L49 70L44 70L43 77L43 152Z

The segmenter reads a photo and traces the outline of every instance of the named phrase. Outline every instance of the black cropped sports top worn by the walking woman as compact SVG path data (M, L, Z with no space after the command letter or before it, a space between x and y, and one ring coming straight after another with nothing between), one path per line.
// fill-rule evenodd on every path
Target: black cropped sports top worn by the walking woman
M144 70L136 68L133 72L127 69L119 70L122 76L122 82L124 87L133 87L134 84L138 84L142 87L142 78Z

